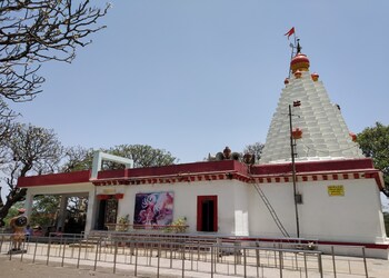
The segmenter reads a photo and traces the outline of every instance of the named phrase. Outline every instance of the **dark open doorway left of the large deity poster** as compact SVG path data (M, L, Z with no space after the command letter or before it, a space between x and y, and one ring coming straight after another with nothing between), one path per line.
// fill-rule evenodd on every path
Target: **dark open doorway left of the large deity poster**
M113 197L100 200L98 229L108 230L113 228L118 217L118 200Z

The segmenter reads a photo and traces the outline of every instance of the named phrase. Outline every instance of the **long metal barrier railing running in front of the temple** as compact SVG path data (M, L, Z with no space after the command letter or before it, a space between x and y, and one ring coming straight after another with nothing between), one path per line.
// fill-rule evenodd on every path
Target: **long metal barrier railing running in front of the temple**
M298 245L261 247L259 241L212 236L92 232L31 237L24 251L10 251L11 235L0 235L0 254L48 266L74 266L133 276L171 277L215 275L240 277L323 277L349 274L368 277L366 257L343 258L301 249ZM332 249L333 251L333 249ZM365 255L365 249L361 249ZM346 264L346 265L345 265ZM110 269L110 270L109 270Z

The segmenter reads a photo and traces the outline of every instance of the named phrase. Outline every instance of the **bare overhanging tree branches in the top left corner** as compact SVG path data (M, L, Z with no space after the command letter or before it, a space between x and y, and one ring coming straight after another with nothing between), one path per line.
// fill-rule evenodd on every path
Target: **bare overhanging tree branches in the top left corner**
M76 48L102 27L107 13L90 0L0 1L0 100L28 101L44 81L38 76L43 62L71 62Z

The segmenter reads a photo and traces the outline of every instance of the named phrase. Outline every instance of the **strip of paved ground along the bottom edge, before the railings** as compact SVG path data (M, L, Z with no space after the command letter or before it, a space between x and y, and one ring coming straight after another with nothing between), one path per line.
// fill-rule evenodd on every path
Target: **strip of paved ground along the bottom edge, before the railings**
M345 260L345 261L351 261L351 260ZM0 255L0 277L18 277L18 278L78 278L78 277L97 277L97 278L113 278L113 277L136 277L134 276L134 265L124 265L120 264L116 267L116 274L113 274L113 268L111 262L99 262L98 268L96 271L93 271L93 265L92 262L88 265L80 265L79 268L77 268L76 264L66 264L63 267L60 267L59 261L52 260L50 261L49 266L46 265L46 261L36 261L34 264L31 264L27 258L21 261L21 256L13 256L10 260L9 256ZM180 262L180 261L178 261ZM188 266L189 261L186 261L186 269L190 269L190 266ZM348 262L350 264L350 262ZM350 278L350 277L366 277L365 275L365 265L363 264L357 264L353 266L349 266L348 264L340 264L337 262L337 278ZM389 277L389 261L388 260L380 260L380 259L368 259L367 260L368 266L368 274L370 278L388 278ZM215 274L215 278L221 278L221 277L242 277L242 272L239 272L239 276L235 276L233 274L233 267L229 266L229 270L226 271L226 269L219 269L223 270L225 274ZM191 271L186 270L184 277L193 277L193 278L203 278L203 277L211 277L209 264L196 264L193 267L193 270L199 271ZM351 269L351 274L350 270ZM308 277L320 277L320 274L317 271L311 272L309 271ZM266 278L276 278L280 277L280 270L277 268L259 268L258 271L253 271L253 269L248 270L247 272L248 277L266 277ZM137 277L157 277L157 268L153 267L146 267L146 266L138 266L137 267ZM182 277L182 271L179 268L170 269L166 266L160 268L159 277ZM287 278L300 278L306 277L305 272L299 271L291 271L283 269L282 270L282 277ZM333 272L329 271L327 269L323 272L323 277L335 277Z

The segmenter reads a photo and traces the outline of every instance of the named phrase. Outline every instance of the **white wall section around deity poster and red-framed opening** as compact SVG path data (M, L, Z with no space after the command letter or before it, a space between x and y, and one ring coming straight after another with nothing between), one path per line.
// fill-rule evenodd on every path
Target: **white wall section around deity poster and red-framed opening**
M132 222L137 193L171 191L174 193L173 219L186 217L189 232L196 232L197 197L216 195L218 196L218 232L248 235L246 186L235 180L127 186L123 188L124 198L119 202L118 216L129 215Z

